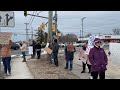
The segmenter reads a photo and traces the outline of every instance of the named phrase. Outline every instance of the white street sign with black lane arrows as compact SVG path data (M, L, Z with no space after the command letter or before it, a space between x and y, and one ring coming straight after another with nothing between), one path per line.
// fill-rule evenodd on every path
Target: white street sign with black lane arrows
M0 11L0 27L15 27L14 12Z

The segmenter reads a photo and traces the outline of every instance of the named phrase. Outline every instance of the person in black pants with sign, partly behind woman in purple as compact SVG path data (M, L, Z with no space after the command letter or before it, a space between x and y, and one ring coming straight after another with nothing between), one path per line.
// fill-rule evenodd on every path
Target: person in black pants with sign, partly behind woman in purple
M82 71L81 73L85 73L85 71L86 71L86 64L87 64L87 67L88 67L88 69L89 69L89 72L88 72L88 73L90 73L90 69L91 69L91 65L87 63L88 56L87 56L87 54L85 54L87 46L88 46L88 42L86 42L86 43L82 46L82 50L81 50L81 51L82 51L83 55L81 55L82 53L81 53L81 51L80 51L80 56L82 56L82 59L84 59L84 62L82 61L83 71ZM85 57L84 57L84 56L85 56ZM79 60L80 60L80 59L79 59Z

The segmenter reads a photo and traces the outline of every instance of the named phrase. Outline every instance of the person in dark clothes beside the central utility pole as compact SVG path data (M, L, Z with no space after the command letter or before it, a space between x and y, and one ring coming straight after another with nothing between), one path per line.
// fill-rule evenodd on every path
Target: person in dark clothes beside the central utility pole
M55 39L53 45L53 58L56 66L58 66L58 51L59 51L59 45L57 39Z

